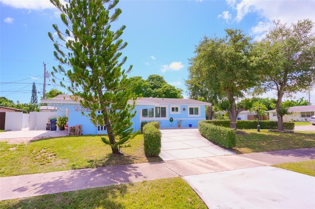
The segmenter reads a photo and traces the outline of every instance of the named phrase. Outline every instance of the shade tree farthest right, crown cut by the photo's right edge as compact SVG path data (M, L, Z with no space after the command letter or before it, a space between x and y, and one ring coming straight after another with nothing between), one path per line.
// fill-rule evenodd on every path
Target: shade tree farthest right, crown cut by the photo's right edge
M274 27L257 45L263 67L264 82L260 90L277 92L276 111L278 130L283 131L283 116L287 108L282 106L284 95L308 90L315 85L315 35L314 22L298 21L287 26L275 20Z

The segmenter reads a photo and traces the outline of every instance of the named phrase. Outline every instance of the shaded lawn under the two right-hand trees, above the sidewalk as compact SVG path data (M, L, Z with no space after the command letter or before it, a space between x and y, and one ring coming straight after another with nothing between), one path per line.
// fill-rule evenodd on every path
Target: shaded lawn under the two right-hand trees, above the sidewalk
M294 131L294 133L267 130L242 131L246 131L246 134L237 134L236 147L231 149L237 154L315 147L315 133L311 131Z

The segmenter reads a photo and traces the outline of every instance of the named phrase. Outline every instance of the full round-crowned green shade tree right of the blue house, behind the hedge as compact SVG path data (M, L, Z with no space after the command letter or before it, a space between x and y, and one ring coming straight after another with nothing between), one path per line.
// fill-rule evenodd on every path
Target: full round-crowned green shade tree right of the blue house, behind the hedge
M225 32L223 38L204 37L200 41L195 56L189 60L187 83L196 84L194 94L200 92L205 97L207 90L212 99L227 99L230 128L236 129L237 115L245 107L237 108L235 99L242 98L245 91L256 85L257 66L251 38L240 29L225 29Z

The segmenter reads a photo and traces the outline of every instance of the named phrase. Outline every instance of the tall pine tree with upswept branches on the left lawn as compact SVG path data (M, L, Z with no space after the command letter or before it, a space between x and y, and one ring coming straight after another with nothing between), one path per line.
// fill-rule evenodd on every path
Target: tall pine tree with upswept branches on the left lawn
M134 102L128 102L135 100L127 78L132 66L123 70L126 57L120 59L127 45L120 38L126 26L111 30L122 12L114 10L119 0L50 1L61 11L65 25L64 32L53 25L59 40L49 32L54 55L61 63L53 67L54 81L61 79L60 85L83 109L90 110L86 115L95 126L106 127L109 140L102 137L102 141L111 146L113 154L119 154L120 146L137 134L131 128Z

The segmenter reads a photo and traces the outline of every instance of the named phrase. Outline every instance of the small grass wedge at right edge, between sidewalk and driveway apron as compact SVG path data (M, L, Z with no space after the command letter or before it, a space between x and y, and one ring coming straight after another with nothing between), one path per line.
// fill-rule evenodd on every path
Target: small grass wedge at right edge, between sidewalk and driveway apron
M302 162L282 163L273 166L315 177L315 159Z

